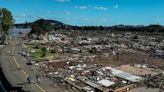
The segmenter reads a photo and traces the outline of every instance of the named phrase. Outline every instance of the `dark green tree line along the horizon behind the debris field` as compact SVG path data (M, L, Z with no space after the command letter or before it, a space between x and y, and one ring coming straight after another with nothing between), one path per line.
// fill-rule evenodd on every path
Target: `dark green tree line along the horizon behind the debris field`
M123 31L123 32L164 32L164 26L153 24L149 26L129 26L129 25L116 25L116 26L71 26L63 23L52 25L51 22L34 22L32 24L31 33L45 33L52 30L81 30L81 31Z

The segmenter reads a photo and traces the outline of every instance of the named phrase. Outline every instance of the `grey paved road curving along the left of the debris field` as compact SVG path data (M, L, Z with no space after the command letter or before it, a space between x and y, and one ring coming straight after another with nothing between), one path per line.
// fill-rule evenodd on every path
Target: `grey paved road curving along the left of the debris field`
M41 78L41 83L35 82L35 76L40 75L40 72L34 66L28 66L27 60L18 54L21 51L21 45L16 45L18 40L12 40L1 54L1 66L6 78L11 85L15 87L23 87L24 90L30 92L66 92L61 88L58 88L48 78ZM28 84L27 76L32 76L33 83Z

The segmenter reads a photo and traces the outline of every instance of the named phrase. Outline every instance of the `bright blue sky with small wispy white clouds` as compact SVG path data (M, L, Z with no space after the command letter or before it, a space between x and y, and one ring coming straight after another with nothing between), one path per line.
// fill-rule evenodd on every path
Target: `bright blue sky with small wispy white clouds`
M40 18L70 25L164 25L164 0L0 0L16 23Z

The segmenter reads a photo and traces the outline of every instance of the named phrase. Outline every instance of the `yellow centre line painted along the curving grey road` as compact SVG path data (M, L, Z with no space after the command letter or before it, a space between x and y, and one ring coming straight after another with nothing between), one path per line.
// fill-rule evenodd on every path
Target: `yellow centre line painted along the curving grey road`
M13 57L13 60L14 60L15 64L17 65L17 67L18 67L18 68L21 68L21 66L19 65L19 63L18 63L17 60L15 59L14 50L15 50L15 47L13 47L13 49L12 49L12 57ZM21 72L22 72L26 77L29 76L23 69L21 69ZM41 86L39 86L34 80L32 80L32 83L35 84L35 86L37 86L42 92L46 92L46 91L45 91Z

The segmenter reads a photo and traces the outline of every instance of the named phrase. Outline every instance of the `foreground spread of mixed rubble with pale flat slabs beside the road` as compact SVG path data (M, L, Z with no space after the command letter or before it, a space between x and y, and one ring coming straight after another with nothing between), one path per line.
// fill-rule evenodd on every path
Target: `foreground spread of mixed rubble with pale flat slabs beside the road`
M112 67L97 64L87 66L84 62L66 62L62 67L57 63L39 63L37 66L43 75L54 80L58 85L75 87L86 92L104 92L116 90L130 90L142 77L123 72ZM53 65L55 64L55 65ZM87 91L92 90L92 91ZM116 91L120 92L120 91Z

